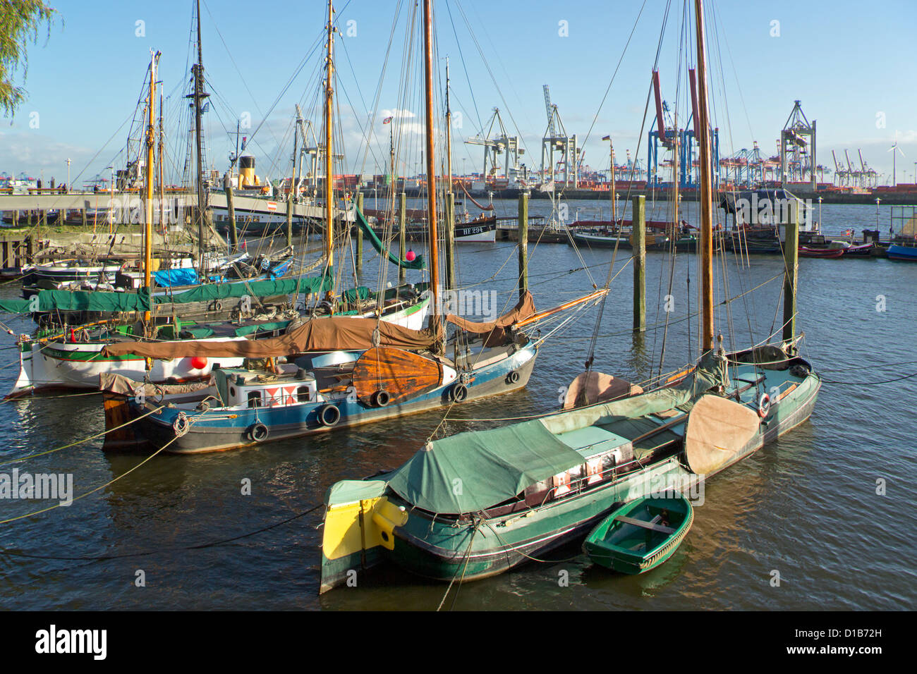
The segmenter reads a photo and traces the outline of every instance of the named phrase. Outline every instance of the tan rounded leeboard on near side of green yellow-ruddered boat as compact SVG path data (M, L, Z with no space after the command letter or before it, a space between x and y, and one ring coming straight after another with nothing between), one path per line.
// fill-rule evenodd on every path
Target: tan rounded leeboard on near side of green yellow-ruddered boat
M694 404L685 430L685 456L691 470L709 475L738 458L755 437L761 420L746 405L707 394Z

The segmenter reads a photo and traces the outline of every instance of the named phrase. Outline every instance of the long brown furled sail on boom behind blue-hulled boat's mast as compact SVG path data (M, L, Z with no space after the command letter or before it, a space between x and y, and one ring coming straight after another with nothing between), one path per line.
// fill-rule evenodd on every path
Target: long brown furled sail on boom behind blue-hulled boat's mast
M437 331L439 332L439 331ZM171 342L118 342L102 349L103 356L133 354L143 358L171 359L191 356L274 358L306 351L359 350L395 347L435 350L441 334L412 330L375 318L328 316L314 318L288 329L280 337L238 341L199 341L179 339Z

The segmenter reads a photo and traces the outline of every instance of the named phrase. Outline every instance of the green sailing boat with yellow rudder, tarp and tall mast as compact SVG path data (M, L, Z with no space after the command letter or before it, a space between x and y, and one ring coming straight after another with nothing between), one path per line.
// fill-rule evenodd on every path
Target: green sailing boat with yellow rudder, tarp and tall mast
M699 127L708 129L702 0L695 13ZM725 353L714 338L706 132L700 145L702 359L668 388L434 440L397 470L337 482L326 496L320 591L383 561L467 581L544 558L622 503L689 493L809 417L821 380L796 355L798 225L788 227L781 343Z

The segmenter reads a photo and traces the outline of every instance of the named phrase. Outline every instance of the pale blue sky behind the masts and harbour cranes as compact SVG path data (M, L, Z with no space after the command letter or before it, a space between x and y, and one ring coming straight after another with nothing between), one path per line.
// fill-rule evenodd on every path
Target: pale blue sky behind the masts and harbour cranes
M28 100L12 124L9 119L0 122L0 171L43 173L46 180L53 175L62 182L67 172L64 160L70 158L72 182L78 182L81 171L81 180L96 172L107 174L105 167L121 160L116 152L125 145L127 127L118 128L135 109L150 49L162 52L160 79L165 92L173 92L168 107L170 121L177 124L176 113L183 108L193 0L52 0L50 4L61 17L51 28L50 39L46 42L42 33L29 50ZM367 107L372 107L396 6L396 0L336 3L341 30L336 40L338 106L348 171L364 166L359 126L366 122ZM410 4L401 6L381 87L377 133L387 133L381 127L384 111L421 113L416 61L406 85L409 94L399 95L405 25L413 11ZM486 122L494 106L501 108L511 135L524 138L528 151L523 161L530 167L540 163L539 139L547 126L545 83L568 132L586 141L586 164L607 168L607 144L601 138L609 133L619 160L624 160L626 149L633 154L666 6L665 0L646 0L602 105L634 28L638 2L437 0L437 62L442 69L443 57L448 55L453 110L462 116L456 129L455 170L463 165L468 171L479 169L481 150L463 146L461 140L479 130L479 120ZM897 134L905 153L898 160L898 182L913 182L917 90L911 73L917 72L912 36L917 3L708 0L706 6L713 106L723 155L750 148L753 140L766 154L774 154L779 129L794 99L801 99L806 116L818 121L819 163L833 165L832 149L839 154L848 149L856 158L856 149L862 148L870 166L890 174L887 150ZM674 107L677 97L679 119L684 119L684 83L676 94L681 11L681 0L673 0L659 71L663 98ZM322 39L325 12L322 0L260 4L202 0L204 66L219 94L206 116L209 160L215 168L226 169L226 153L235 142L226 130L235 130L235 119L249 113L254 128L271 110L250 149L262 170L272 169L271 177L284 170L289 173L293 105L298 102L309 108L315 100L321 67L321 48L315 46ZM692 48L688 51L680 58L682 77L684 63L694 60ZM304 67L278 100L307 55ZM18 75L21 82L22 73ZM652 116L650 105L644 134ZM587 139L593 118L595 126ZM645 158L646 141L641 139L639 145L640 157ZM387 146L384 136L373 145L366 171L376 171L376 165L384 163L387 147L383 146ZM413 153L413 159L406 160L411 172L419 162L419 145L405 141L405 148L407 154ZM181 163L179 155L175 149L173 164ZM884 182L890 182L890 176Z

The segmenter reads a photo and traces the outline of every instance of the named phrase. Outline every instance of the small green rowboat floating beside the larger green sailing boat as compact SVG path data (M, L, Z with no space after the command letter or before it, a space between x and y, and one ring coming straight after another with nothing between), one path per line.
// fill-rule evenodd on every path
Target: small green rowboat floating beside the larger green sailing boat
M582 548L606 569L644 573L671 557L693 522L691 502L683 496L646 496L608 515L592 529Z

